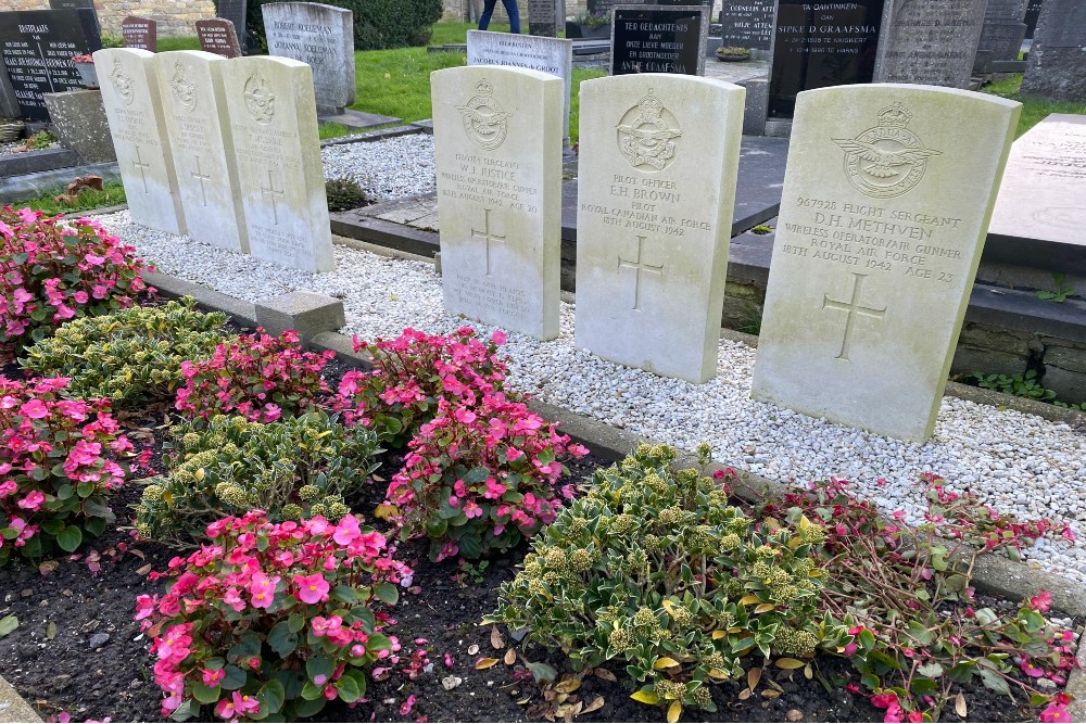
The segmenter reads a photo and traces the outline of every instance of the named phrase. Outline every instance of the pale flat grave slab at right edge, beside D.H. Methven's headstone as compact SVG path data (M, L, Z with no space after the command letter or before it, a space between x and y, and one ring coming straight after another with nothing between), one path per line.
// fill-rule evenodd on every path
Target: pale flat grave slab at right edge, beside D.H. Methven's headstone
M1075 265L1086 274L1083 229L1086 116L1053 113L1011 147L988 245L1000 261L1043 259L1064 271Z

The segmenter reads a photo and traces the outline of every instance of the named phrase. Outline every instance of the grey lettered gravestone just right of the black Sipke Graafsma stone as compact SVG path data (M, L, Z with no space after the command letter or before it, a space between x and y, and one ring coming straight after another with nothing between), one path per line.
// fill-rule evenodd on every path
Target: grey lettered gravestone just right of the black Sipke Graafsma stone
M875 82L969 88L988 0L889 0Z

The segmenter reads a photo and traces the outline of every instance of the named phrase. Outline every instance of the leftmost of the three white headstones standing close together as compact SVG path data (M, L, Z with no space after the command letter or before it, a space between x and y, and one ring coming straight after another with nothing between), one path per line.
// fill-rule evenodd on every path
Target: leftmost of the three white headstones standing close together
M185 233L154 53L134 48L99 50L94 52L94 67L132 220Z

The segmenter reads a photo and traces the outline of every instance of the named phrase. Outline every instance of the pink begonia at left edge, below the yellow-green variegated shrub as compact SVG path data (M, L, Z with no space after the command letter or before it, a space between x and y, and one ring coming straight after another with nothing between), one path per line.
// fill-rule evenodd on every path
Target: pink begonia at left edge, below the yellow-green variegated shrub
M113 522L104 493L126 470L108 457L131 450L103 401L62 399L64 378L15 382L0 376L0 564L18 551L73 551L84 532Z

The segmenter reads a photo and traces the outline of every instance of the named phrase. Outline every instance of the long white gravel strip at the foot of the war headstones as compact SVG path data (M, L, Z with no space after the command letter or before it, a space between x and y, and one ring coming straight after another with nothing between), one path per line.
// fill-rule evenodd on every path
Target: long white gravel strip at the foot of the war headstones
M108 229L165 274L255 302L293 290L343 300L344 333L394 338L405 327L447 333L433 266L336 247L337 271L311 275L240 256L188 238L152 231L127 212L103 216ZM480 333L493 328L476 323ZM1049 517L1086 533L1086 433L1014 410L947 397L924 445L863 432L749 398L755 350L721 341L717 377L695 385L615 365L573 346L573 306L561 305L561 335L540 342L510 333L513 388L631 432L693 449L767 478L806 483L837 477L892 512L919 522L920 474L936 472L1001 511ZM1086 535L1043 539L1024 551L1031 564L1086 582Z

